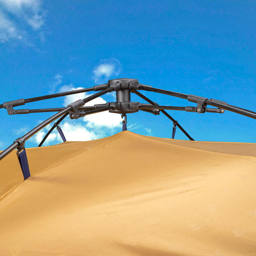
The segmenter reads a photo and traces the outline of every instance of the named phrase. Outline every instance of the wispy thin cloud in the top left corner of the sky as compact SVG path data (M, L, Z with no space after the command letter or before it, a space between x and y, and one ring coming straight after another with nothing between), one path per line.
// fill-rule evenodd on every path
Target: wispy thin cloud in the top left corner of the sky
M0 0L0 42L19 40L28 44L29 29L39 30L44 25L46 12L41 0ZM41 36L40 36L41 38Z

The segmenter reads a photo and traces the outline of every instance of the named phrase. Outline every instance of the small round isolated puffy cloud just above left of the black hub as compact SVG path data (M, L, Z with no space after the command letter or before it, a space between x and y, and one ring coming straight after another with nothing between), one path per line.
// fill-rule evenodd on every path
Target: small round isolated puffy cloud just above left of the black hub
M95 84L105 84L109 78L116 78L122 71L122 65L116 58L108 58L100 60L100 63L93 69L93 77Z

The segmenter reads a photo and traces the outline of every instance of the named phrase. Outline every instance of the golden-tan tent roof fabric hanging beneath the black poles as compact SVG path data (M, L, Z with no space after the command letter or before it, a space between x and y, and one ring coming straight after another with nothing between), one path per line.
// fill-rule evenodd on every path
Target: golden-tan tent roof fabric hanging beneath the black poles
M0 255L256 255L256 145L129 131L0 161Z

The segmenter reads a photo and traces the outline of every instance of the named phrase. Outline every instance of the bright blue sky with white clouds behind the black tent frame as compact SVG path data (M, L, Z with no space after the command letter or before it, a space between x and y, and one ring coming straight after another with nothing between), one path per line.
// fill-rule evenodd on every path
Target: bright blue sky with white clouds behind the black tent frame
M135 78L156 88L195 94L256 111L255 1L0 0L0 103ZM160 105L195 103L142 92ZM92 92L93 93L93 92ZM16 109L58 108L91 95L27 103ZM132 101L145 102L132 94ZM87 105L115 101L108 93ZM195 140L256 142L256 120L224 114L167 112ZM54 113L7 115L0 109L0 149ZM122 131L118 114L103 112L60 124L67 140ZM36 147L47 126L26 142ZM170 138L163 114L127 114L129 131ZM175 139L187 140L177 128ZM57 131L44 145L60 143Z

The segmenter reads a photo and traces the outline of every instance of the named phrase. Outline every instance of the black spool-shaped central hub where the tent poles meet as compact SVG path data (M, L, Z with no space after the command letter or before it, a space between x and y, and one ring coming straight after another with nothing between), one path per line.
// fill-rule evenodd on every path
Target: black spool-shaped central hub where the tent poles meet
M114 85L116 83L120 84L120 90L116 91L116 102L120 102L121 109L109 110L111 113L135 113L138 112L136 109L130 109L130 101L131 101L131 90L129 89L130 82L139 83L137 79L132 78L120 78L120 79L112 79L109 80L109 86Z

